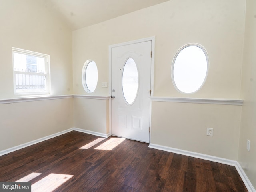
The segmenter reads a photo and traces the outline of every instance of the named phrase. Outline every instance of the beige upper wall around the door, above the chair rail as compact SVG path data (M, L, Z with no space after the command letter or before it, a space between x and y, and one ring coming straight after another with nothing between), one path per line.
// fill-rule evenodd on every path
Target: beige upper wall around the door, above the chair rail
M245 0L171 0L73 32L74 94L86 94L81 71L95 60L99 83L94 95L108 95L108 46L155 36L154 96L239 98ZM202 44L210 59L205 85L181 94L171 80L172 59L188 43Z

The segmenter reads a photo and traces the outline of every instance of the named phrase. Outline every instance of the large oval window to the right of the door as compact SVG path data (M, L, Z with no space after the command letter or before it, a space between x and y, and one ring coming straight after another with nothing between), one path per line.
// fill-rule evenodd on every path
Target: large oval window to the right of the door
M179 92L197 92L207 74L208 56L202 46L188 44L178 50L172 62L172 82Z

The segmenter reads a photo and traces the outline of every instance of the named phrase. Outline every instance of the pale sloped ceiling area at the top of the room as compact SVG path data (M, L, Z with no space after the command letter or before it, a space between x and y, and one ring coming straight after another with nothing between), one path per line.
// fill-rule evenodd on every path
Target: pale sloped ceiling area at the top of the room
M45 0L72 30L97 24L168 0Z

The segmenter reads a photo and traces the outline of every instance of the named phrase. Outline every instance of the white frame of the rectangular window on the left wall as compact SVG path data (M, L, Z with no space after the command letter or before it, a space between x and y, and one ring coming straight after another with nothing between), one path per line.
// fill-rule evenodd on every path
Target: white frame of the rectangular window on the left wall
M24 92L24 93L17 93L16 92L16 74L17 74L17 71L14 70L14 53L20 53L20 54L26 54L26 55L31 55L31 56L44 58L44 60L45 60L44 76L46 76L46 85L45 85L46 86L46 91L45 92ZM16 96L50 95L50 91L51 91L50 55L12 47L12 72L13 72L14 95L16 95ZM31 74L32 72L22 72L22 73Z

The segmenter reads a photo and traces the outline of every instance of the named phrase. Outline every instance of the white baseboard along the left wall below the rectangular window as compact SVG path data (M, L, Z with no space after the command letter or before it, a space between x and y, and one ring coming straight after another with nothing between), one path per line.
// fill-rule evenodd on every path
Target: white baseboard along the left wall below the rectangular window
M61 132L58 132L58 133L55 133L55 134L52 134L52 135L40 138L40 139L36 139L34 141L30 141L30 142L27 142L27 143L24 143L24 144L21 144L21 145L18 145L18 146L15 146L15 147L12 147L12 148L9 148L9 149L6 149L6 150L2 150L2 151L0 151L0 156L5 155L5 154L10 153L10 152L14 152L16 150L19 150L19 149L22 149L22 148L25 148L25 147L28 147L30 145L37 144L39 142L42 142L42 141L45 141L45 140L48 140L48 139L60 136L62 134L68 133L68 132L70 132L72 130L73 129L70 128L70 129L67 129L67 130L64 130L64 131L61 131Z

